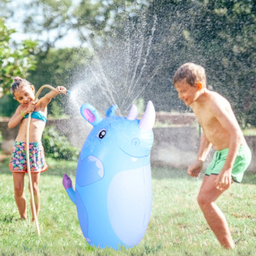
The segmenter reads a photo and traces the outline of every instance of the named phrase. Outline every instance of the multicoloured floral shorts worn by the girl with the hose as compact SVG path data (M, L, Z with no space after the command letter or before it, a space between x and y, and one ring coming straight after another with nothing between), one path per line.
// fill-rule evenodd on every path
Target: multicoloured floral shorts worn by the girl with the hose
M29 164L31 172L43 172L48 169L42 142L29 143ZM12 172L28 172L26 165L26 142L14 142L9 168Z

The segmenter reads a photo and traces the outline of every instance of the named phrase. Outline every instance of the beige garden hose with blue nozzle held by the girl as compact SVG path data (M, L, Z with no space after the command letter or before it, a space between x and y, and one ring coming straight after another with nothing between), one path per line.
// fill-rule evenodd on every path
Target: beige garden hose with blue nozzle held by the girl
M56 92L58 92L58 90L56 90L51 85L42 85L40 87L40 89L38 90L38 92L36 93L36 97L34 99L35 102L36 102L40 92L43 90L43 88L46 88L46 87L48 87L50 90L55 90ZM71 92L69 90L68 91L62 90L60 92L62 92L62 93L66 92L66 95L71 95ZM31 191L31 203L32 203L32 208L33 208L33 216L34 216L34 220L35 220L35 223L36 223L36 230L38 232L38 235L40 236L38 218L37 218L37 215L36 215L36 206L35 206L35 201L34 201L34 197L33 197L33 186L32 186L31 169L30 169L30 162L29 162L29 127L30 127L30 122L31 122L31 113L28 114L28 123L27 123L27 127L26 127L26 162L27 162L27 170L28 170L29 187L30 187L30 191Z

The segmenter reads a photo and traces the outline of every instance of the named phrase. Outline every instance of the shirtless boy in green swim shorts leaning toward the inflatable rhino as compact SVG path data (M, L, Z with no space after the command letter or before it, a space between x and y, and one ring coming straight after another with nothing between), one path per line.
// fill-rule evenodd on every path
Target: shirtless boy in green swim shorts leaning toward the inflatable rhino
M234 248L227 220L215 201L233 181L242 181L252 154L228 100L206 88L203 67L194 63L182 65L174 75L174 86L178 98L191 107L203 129L198 157L188 167L188 175L197 177L210 147L216 150L203 178L198 204L220 245Z

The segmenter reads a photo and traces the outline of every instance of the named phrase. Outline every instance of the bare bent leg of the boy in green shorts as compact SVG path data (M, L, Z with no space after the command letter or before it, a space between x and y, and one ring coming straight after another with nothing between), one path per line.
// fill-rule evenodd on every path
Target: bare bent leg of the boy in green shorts
M203 211L208 225L213 230L220 245L225 248L234 248L235 244L228 228L223 212L215 204L217 198L224 192L215 187L215 175L205 176L198 194L198 204Z

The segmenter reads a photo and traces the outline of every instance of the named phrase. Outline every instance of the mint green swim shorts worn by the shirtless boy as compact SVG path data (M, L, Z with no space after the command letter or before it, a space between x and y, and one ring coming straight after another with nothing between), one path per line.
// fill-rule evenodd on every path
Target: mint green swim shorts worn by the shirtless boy
M208 169L206 170L206 175L210 176L210 174L218 175L223 169L225 164L225 160L228 156L228 149L222 149L219 151L215 151L213 155L213 161L210 162ZM242 177L250 165L250 161L252 160L252 152L250 151L249 146L243 145L238 149L238 155L235 159L235 163L233 165L231 176L235 182L240 183L242 181Z

